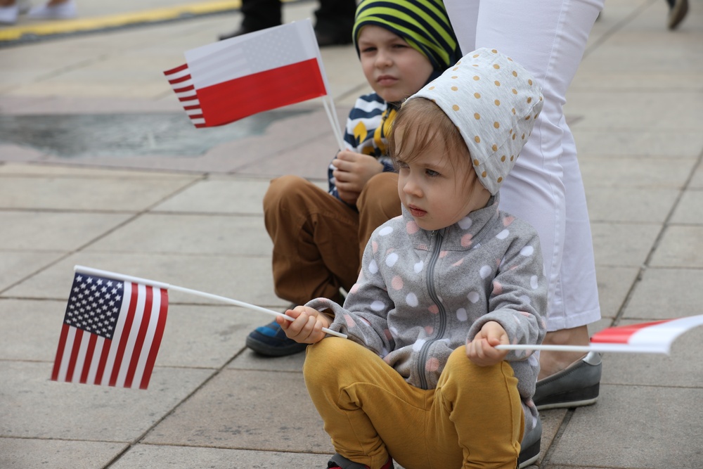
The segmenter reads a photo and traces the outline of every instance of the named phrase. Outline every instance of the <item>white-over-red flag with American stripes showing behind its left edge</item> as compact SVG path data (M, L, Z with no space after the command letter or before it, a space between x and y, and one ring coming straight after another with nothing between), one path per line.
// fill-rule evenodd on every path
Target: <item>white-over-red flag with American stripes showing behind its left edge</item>
M164 72L195 127L328 95L310 20L243 34L186 51Z

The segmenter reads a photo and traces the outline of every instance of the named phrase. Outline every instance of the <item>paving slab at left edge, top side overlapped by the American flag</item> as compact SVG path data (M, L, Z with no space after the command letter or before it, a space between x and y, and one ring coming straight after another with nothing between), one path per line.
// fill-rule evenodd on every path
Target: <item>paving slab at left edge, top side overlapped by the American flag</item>
M57 332L58 333L58 332ZM148 390L56 383L50 362L0 361L0 435L133 442L197 389L209 369L160 368Z

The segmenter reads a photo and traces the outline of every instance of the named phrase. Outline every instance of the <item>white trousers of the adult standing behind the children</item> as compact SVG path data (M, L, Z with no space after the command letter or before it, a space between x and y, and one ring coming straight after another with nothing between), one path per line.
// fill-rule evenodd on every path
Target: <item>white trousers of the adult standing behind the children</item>
M591 224L562 106L603 0L444 0L466 54L497 49L542 85L543 110L501 186L501 208L539 233L550 279L547 330L600 319Z

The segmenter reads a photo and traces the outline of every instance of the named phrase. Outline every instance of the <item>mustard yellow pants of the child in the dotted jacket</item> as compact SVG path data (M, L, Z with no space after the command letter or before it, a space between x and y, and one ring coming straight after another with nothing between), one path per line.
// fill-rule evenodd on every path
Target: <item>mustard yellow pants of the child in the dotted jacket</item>
M524 431L517 379L456 349L437 388L421 390L365 347L328 337L307 347L308 392L337 453L371 469L515 469Z

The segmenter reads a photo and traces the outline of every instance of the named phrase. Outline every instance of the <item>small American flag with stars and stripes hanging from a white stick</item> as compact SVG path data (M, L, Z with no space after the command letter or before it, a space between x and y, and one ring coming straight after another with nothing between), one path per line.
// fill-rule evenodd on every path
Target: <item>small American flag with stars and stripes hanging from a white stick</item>
M167 310L165 288L77 272L51 379L146 390Z

